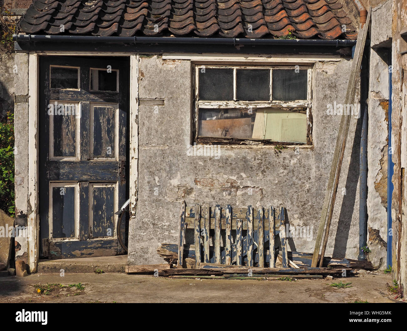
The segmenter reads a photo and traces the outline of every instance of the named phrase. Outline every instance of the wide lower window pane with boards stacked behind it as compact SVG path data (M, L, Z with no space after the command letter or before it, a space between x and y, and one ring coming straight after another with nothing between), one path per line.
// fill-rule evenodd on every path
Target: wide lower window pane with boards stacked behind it
M200 137L267 139L306 143L306 110L274 108L200 109Z

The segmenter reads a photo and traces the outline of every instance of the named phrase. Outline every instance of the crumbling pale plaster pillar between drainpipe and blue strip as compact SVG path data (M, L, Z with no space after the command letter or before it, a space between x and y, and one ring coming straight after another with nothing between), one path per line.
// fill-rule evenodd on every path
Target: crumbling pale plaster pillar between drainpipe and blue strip
M386 269L387 254L387 139L389 108L388 48L391 20L383 20L392 1L372 9L368 95L368 258L375 267Z

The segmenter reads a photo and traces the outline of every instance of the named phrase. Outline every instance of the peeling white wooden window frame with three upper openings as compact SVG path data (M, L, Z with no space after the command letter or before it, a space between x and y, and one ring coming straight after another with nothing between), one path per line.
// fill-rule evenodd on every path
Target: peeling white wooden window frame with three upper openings
M233 69L233 100L207 101L199 100L199 72L206 69ZM236 70L237 69L269 69L270 70L270 100L269 101L241 101L236 100ZM307 99L294 101L272 100L273 97L273 69L300 69L307 70ZM193 116L193 142L202 145L312 145L312 70L313 65L305 64L193 64L194 77L194 116ZM272 141L269 139L248 139L233 137L204 137L198 135L199 109L227 109L227 108L304 108L307 120L307 142L291 143Z

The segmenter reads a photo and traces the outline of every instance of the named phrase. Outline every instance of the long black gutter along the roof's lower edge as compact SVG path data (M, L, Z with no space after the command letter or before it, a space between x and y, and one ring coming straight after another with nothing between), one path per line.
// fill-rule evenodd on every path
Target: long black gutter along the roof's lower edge
M354 46L356 40L306 39L249 39L199 37L99 37L82 35L13 35L15 42L41 43L101 43L101 44L211 44L211 45L296 45L296 46Z

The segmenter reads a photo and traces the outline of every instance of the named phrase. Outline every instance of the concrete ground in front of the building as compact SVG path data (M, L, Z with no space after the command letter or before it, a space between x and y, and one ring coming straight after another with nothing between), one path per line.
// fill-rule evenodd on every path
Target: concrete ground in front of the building
M386 286L392 283L390 275L361 272L334 280L293 281L38 273L0 278L0 302L396 302ZM339 281L352 282L352 287L329 286Z

